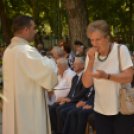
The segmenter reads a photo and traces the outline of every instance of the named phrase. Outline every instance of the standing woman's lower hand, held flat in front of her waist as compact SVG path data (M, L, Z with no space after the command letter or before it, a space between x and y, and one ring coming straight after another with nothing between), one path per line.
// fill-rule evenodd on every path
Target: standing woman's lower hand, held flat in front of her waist
M97 79L108 79L108 74L103 70L96 70L97 73L89 73L90 76Z

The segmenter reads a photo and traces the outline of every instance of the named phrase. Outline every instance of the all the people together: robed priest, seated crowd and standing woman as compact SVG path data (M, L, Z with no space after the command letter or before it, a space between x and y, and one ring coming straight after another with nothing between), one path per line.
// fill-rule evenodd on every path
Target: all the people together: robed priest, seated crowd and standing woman
M88 25L92 47L76 40L76 52L65 40L47 52L30 46L36 30L29 16L15 18L13 32L3 58L3 134L84 134L87 122L94 134L133 133L133 115L119 111L119 89L134 86L134 58L111 41L106 21Z

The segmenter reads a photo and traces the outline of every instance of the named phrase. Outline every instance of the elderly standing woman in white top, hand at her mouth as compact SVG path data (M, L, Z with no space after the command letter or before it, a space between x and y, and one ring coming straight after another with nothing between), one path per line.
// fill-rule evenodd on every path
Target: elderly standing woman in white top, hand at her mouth
M119 89L122 83L131 83L133 64L127 47L122 45L120 72L118 44L110 42L110 32L104 20L89 24L87 36L93 47L88 51L82 81L86 88L93 83L95 86L94 110L97 134L132 134L133 115L120 113Z

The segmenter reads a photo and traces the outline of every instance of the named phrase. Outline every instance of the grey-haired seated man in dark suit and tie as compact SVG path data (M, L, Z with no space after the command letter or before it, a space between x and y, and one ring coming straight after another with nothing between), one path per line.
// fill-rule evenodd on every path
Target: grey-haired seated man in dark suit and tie
M61 124L61 122L59 123L59 116L57 115L57 108L60 107L61 103L63 104L63 102L68 102L62 105L63 107L69 107L72 105L75 106L76 102L78 102L81 98L83 98L88 92L88 90L86 90L85 87L83 87L81 80L83 69L84 69L84 60L81 57L76 58L74 62L74 71L76 72L76 75L72 79L70 92L66 97L58 99L56 103L54 103L49 109L52 130L55 132L57 132L57 130L59 131L59 129L57 128L59 128ZM63 127L61 127L61 129L62 128Z

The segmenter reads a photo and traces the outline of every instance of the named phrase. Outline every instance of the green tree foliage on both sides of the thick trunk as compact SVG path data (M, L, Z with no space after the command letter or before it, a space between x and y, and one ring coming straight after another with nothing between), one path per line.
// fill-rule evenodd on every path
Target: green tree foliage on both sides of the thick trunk
M86 2L89 22L104 19L111 26L113 37L123 38L128 43L134 42L133 0L86 0ZM0 8L2 40L7 38L6 34L10 34L9 38L13 36L12 20L19 14L26 14L35 19L39 42L41 34L48 38L51 35L58 40L68 36L68 16L62 0L0 0L0 3L3 4L3 8ZM9 43L6 39L5 41Z

